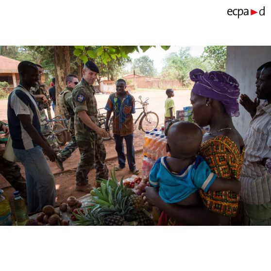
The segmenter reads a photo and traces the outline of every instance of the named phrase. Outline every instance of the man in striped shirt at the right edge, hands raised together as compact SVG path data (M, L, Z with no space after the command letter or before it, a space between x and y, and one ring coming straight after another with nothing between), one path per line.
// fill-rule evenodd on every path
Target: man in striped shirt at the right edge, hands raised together
M260 75L259 75L260 74ZM245 225L271 225L271 62L257 70L256 95L262 105L242 94L240 104L251 114L241 180Z

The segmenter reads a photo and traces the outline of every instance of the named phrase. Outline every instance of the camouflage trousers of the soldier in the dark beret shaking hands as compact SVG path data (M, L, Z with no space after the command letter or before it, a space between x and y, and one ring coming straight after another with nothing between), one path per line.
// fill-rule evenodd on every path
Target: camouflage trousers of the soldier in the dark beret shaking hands
M80 151L80 161L76 171L76 185L88 184L87 174L91 169L96 169L96 180L108 179L108 169L104 163L106 157L102 138L91 141L77 141Z

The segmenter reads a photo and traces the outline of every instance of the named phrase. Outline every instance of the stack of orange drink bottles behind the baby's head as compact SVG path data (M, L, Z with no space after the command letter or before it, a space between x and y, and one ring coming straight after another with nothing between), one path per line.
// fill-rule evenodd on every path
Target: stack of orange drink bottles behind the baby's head
M162 125L161 130L154 129L152 133L147 132L144 136L143 144L143 163L142 174L148 176L155 161L162 156L169 156L166 151L167 136L165 127Z

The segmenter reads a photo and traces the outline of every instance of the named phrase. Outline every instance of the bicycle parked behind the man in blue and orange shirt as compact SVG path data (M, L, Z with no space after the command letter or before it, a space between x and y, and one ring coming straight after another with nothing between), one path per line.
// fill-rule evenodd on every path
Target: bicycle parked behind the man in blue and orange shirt
M137 119L135 119L134 122L134 131L136 130L136 123L139 120L139 125L138 125L138 130L141 130L142 132L146 133L146 132L152 132L159 123L159 117L155 112L152 111L148 111L148 104L149 104L149 97L147 97L147 99L143 102L141 100L142 96L140 95L138 97L138 99L140 101L135 101L135 102L139 102L142 107L138 107L135 109L143 109L142 112L140 113L140 115L137 117ZM113 136L113 116L109 119L109 137L111 139L114 139ZM106 139L109 140L109 139Z

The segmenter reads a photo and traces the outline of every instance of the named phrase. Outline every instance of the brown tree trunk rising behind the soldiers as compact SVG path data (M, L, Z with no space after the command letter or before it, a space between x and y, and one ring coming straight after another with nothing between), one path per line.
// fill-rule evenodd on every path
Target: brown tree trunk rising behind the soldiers
M55 115L59 115L58 94L66 87L65 79L70 73L68 46L54 46ZM64 116L62 116L64 118Z

